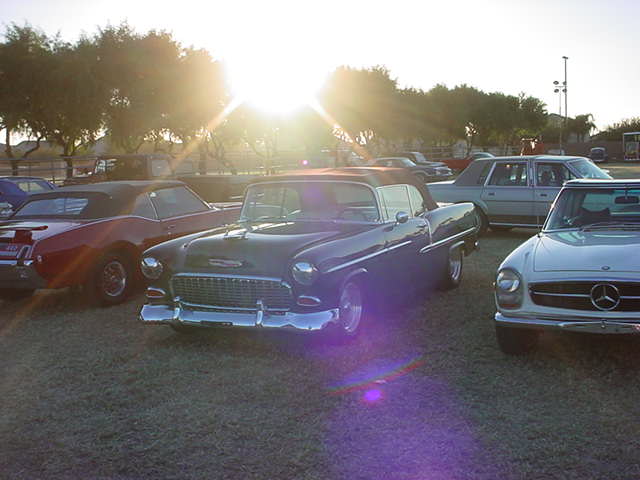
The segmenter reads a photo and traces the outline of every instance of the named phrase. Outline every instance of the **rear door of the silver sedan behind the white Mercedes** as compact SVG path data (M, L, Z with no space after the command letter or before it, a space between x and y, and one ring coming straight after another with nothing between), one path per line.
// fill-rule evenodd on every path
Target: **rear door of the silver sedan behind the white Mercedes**
M527 160L495 162L481 199L487 205L489 223L536 225Z

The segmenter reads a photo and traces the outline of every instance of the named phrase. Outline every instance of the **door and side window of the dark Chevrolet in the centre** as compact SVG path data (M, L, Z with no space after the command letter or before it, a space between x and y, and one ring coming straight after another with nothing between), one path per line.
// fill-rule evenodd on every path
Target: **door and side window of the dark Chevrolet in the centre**
M429 224L412 208L409 197L410 185L389 185L379 189L387 226L385 228L385 260L387 262L387 285L406 293L416 286L421 267L420 249L428 243ZM418 192L419 193L419 192ZM406 213L409 219L398 223L396 215Z

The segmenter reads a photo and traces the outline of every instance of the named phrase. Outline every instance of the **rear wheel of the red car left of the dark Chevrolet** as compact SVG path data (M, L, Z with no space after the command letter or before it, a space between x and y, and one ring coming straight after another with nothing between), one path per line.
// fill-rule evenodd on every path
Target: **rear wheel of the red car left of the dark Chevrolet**
M90 294L102 306L122 303L133 287L133 268L121 253L107 253L96 264L89 280Z

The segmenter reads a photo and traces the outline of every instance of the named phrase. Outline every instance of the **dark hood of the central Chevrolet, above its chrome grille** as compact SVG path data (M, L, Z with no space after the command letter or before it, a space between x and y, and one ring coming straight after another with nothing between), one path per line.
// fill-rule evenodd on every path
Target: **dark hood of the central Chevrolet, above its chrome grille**
M224 233L201 236L189 242L182 270L281 278L301 250L346 235L353 229L353 226L327 222L232 225Z

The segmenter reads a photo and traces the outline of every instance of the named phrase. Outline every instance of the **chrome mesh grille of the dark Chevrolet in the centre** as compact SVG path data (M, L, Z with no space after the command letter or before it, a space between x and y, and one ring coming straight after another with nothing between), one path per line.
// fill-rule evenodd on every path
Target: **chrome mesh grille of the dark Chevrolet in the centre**
M275 279L176 275L172 288L183 302L211 308L256 310L258 301L269 310L291 308L291 288Z

